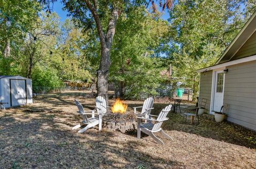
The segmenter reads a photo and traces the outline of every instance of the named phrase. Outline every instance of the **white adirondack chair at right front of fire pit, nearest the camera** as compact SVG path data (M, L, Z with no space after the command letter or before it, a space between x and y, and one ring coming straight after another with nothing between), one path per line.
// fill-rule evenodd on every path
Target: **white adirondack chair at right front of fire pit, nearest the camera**
M164 142L155 136L155 134L154 134L155 132L161 132L162 135L166 139L172 139L161 128L161 125L163 124L163 122L169 119L166 116L170 112L171 107L172 107L172 105L166 106L164 109L162 109L161 113L158 116L149 115L149 116L157 117L156 120L153 119L153 118L146 119L145 117L138 117L137 116L137 122L138 122L137 138L140 139L140 132L142 131L142 132L148 134L149 136L151 136L157 143L161 143L162 145L164 145ZM148 120L148 123L141 124L141 122L140 122L141 119ZM152 121L154 121L155 123L153 124Z

